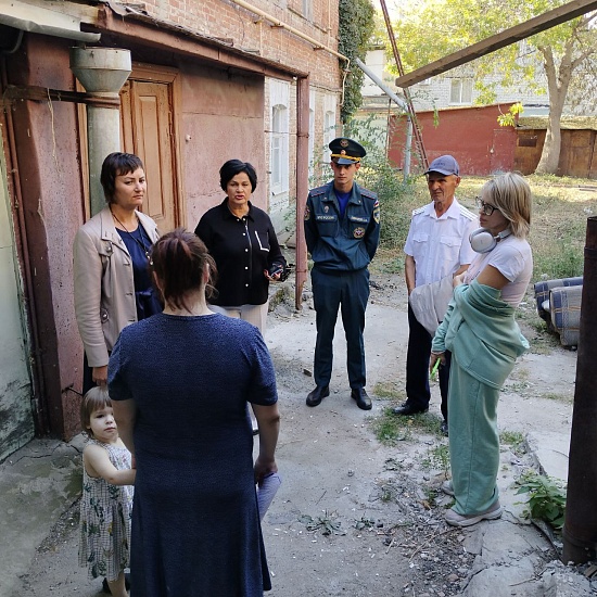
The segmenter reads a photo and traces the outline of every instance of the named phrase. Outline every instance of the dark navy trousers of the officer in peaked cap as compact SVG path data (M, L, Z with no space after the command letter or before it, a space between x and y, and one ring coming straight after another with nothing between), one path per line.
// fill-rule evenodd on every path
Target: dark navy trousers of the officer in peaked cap
M369 270L328 274L315 267L310 272L316 310L317 341L314 377L317 385L328 385L332 374L333 334L338 310L346 335L346 368L351 388L365 388L365 309L369 300Z

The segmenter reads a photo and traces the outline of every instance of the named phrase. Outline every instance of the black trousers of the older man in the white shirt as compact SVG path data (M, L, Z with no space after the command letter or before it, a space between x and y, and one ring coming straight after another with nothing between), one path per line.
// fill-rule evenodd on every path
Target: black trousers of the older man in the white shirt
M419 323L408 305L408 350L406 353L406 402L417 409L429 408L429 358L431 356L431 334ZM446 351L446 364L440 365L440 393L442 415L447 421L447 391L452 353Z

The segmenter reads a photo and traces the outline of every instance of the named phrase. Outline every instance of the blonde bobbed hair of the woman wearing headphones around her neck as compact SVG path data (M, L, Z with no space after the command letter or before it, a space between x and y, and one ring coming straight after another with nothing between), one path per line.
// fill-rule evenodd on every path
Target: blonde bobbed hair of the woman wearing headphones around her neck
M531 187L520 174L506 173L487 180L481 196L491 201L510 221L515 237L526 238L531 228Z

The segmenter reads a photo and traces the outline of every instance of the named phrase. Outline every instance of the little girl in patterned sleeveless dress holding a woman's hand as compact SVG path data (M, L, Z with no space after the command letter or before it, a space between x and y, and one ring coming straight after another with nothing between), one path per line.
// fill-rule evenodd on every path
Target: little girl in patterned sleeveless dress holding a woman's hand
M82 398L80 419L88 443L82 452L79 564L102 575L114 597L127 597L132 484L130 452L118 436L112 401L104 388Z

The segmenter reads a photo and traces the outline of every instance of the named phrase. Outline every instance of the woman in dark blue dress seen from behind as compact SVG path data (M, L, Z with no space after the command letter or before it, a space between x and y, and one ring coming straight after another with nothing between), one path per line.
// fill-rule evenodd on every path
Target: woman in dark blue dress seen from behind
M215 264L198 237L165 234L151 259L164 312L126 327L109 367L137 462L131 595L263 595L271 583L255 483L277 471L271 358L257 328L207 307Z

